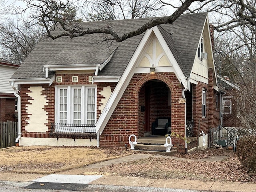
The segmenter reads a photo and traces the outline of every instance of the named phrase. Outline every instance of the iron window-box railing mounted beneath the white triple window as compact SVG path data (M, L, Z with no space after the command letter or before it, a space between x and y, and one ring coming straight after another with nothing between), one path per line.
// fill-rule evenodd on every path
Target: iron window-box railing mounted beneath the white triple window
M95 124L62 124L52 123L50 130L52 138L97 139Z

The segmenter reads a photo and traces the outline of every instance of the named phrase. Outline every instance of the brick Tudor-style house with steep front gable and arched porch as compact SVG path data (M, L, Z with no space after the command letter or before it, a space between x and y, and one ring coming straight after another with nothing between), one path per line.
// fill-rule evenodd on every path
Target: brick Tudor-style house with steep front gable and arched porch
M81 24L123 34L151 19ZM124 42L105 36L42 40L22 63L11 80L20 85L21 145L124 147L131 134L150 135L156 118L167 117L181 136L186 122L194 120L190 150L197 146L198 127L208 134L219 125L207 13L182 15ZM52 123L62 125L51 129Z

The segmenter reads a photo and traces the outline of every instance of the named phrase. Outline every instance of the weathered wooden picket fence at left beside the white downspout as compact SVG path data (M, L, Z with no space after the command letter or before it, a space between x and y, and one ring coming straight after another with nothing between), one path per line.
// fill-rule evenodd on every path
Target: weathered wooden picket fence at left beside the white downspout
M0 148L15 146L18 137L18 122L0 122Z

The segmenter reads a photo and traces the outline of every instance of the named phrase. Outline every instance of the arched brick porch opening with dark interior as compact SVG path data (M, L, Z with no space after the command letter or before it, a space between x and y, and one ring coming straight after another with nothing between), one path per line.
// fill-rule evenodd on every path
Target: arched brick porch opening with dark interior
M151 134L151 124L156 118L168 117L173 119L172 102L178 102L178 91L174 85L177 80L172 82L174 79L176 79L175 74L169 74L169 76L148 74L136 83L133 97L135 103L138 104L138 136ZM157 94L154 93L156 90L158 90ZM158 98L159 96L161 98Z

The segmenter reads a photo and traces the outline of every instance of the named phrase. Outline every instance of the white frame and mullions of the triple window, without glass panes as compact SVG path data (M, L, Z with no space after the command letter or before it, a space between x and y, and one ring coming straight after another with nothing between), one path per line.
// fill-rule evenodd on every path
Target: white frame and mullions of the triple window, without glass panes
M74 89L81 88L81 124L87 122L88 89L94 89L94 124L97 116L97 88L96 86L55 86L55 122L60 123L60 89L67 89L67 124L74 124Z

